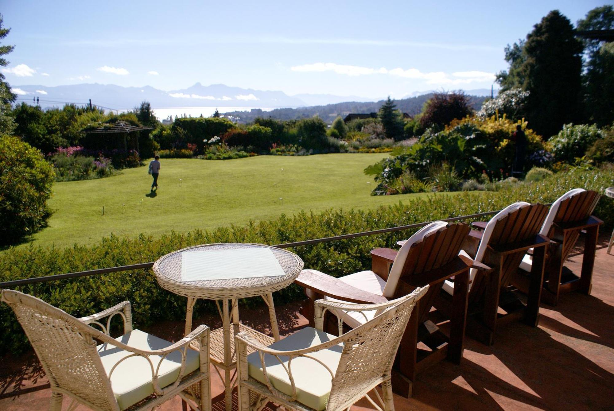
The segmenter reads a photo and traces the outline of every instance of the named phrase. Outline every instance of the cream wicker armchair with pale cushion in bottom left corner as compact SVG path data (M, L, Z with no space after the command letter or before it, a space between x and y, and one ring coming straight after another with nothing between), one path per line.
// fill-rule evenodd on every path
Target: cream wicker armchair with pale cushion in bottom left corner
M49 378L52 411L61 410L63 394L72 399L69 410L79 403L94 410L145 410L177 395L191 409L211 409L208 326L172 344L133 330L129 301L83 318L18 291L2 290L2 301L14 310ZM125 333L117 339L109 336L114 315L123 319ZM200 352L189 348L194 340Z

